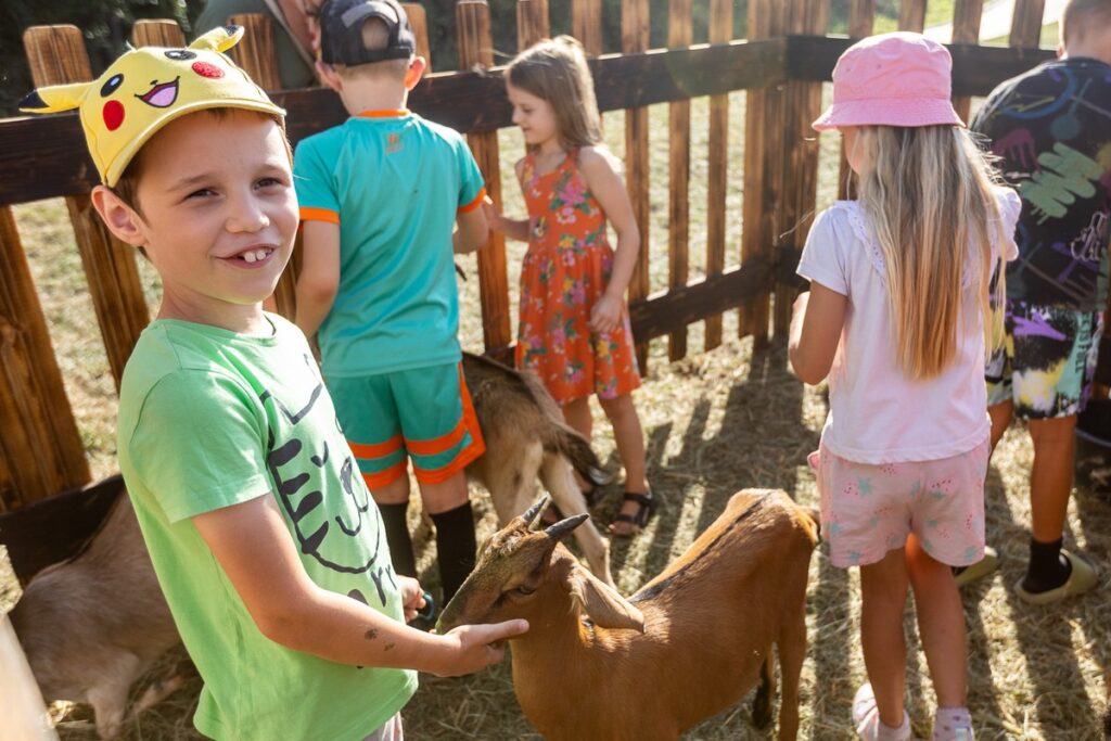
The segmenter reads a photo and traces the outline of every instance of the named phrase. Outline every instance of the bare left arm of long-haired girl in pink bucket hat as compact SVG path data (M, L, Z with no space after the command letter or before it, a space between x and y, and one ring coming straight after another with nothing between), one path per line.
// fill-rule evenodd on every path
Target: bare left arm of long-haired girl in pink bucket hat
M848 306L848 297L815 282L795 299L788 354L804 383L821 383L829 374Z

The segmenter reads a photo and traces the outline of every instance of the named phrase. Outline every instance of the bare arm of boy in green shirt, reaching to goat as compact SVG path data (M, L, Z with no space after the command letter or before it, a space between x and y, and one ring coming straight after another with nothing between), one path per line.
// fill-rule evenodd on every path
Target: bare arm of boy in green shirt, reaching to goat
M468 674L501 661L491 643L528 630L523 620L464 625L446 635L394 622L309 579L272 497L192 519L263 635L339 663Z

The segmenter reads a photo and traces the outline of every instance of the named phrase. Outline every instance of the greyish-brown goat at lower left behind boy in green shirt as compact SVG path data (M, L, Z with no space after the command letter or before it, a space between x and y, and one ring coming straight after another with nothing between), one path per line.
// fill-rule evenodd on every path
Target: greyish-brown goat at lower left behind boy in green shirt
M114 737L131 684L181 640L127 494L82 552L28 583L11 621L42 695L92 704L100 738ZM132 712L179 682L151 687Z

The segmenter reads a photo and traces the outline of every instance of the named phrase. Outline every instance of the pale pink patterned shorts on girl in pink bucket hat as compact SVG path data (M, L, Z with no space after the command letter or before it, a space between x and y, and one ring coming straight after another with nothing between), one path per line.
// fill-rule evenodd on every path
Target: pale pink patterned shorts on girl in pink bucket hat
M962 567L983 558L983 480L988 440L934 461L857 463L825 445L810 453L822 498L822 537L833 565L875 563L914 533L938 561Z

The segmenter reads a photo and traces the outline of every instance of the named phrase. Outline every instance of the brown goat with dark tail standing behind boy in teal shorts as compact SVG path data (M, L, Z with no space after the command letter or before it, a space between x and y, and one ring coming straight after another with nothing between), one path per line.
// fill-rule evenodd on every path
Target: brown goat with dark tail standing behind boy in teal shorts
M540 380L469 352L463 353L463 377L487 445L467 475L490 492L499 524L529 508L538 477L563 514L584 513L587 500L571 469L598 481L601 464L587 439L563 421ZM609 542L592 522L574 537L590 570L612 585Z

